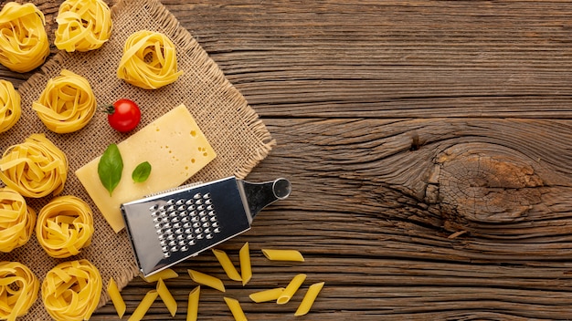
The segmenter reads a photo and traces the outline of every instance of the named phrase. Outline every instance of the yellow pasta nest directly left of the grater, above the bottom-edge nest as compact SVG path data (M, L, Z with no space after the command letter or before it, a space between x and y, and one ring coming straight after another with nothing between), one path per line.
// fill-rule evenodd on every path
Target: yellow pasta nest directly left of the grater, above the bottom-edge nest
M90 245L93 231L90 205L75 196L59 196L37 214L37 242L52 257L79 254Z

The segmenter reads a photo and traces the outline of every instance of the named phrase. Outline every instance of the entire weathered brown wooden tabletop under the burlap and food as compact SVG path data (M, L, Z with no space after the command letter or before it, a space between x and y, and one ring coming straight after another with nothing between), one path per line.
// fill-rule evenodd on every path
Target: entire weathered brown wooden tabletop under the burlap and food
M60 0L33 1L48 27ZM111 4L111 3L110 3ZM572 317L572 4L567 1L164 0L260 114L276 147L251 181L291 197L224 243L249 242L253 278L214 255L168 280L184 320L525 320ZM56 52L52 46L52 54ZM0 69L16 87L31 73ZM261 248L298 249L302 264ZM248 295L305 273L287 305ZM312 311L293 316L308 285ZM127 315L154 288L123 289ZM126 317L124 317L126 318ZM115 320L112 305L93 320Z

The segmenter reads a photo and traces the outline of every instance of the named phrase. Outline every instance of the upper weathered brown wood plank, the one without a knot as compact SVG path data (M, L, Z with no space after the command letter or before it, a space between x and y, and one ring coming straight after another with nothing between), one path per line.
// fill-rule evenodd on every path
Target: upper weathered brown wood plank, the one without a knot
M570 118L566 2L164 4L265 116Z

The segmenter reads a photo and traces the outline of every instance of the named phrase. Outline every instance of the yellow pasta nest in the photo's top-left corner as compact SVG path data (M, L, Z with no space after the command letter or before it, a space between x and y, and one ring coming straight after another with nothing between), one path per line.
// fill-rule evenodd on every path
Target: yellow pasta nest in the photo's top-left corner
M0 64L16 72L43 64L49 55L45 25L36 5L5 4L0 11Z

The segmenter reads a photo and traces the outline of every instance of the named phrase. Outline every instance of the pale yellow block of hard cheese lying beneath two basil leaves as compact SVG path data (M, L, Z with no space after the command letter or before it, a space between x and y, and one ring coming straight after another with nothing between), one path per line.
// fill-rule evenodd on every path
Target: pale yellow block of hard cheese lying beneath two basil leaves
M76 171L76 175L111 228L118 233L125 226L120 206L155 192L175 188L201 170L217 154L184 105L117 144L122 153L122 180L111 196L98 175L100 157ZM147 181L132 181L132 171L143 161L152 166Z

